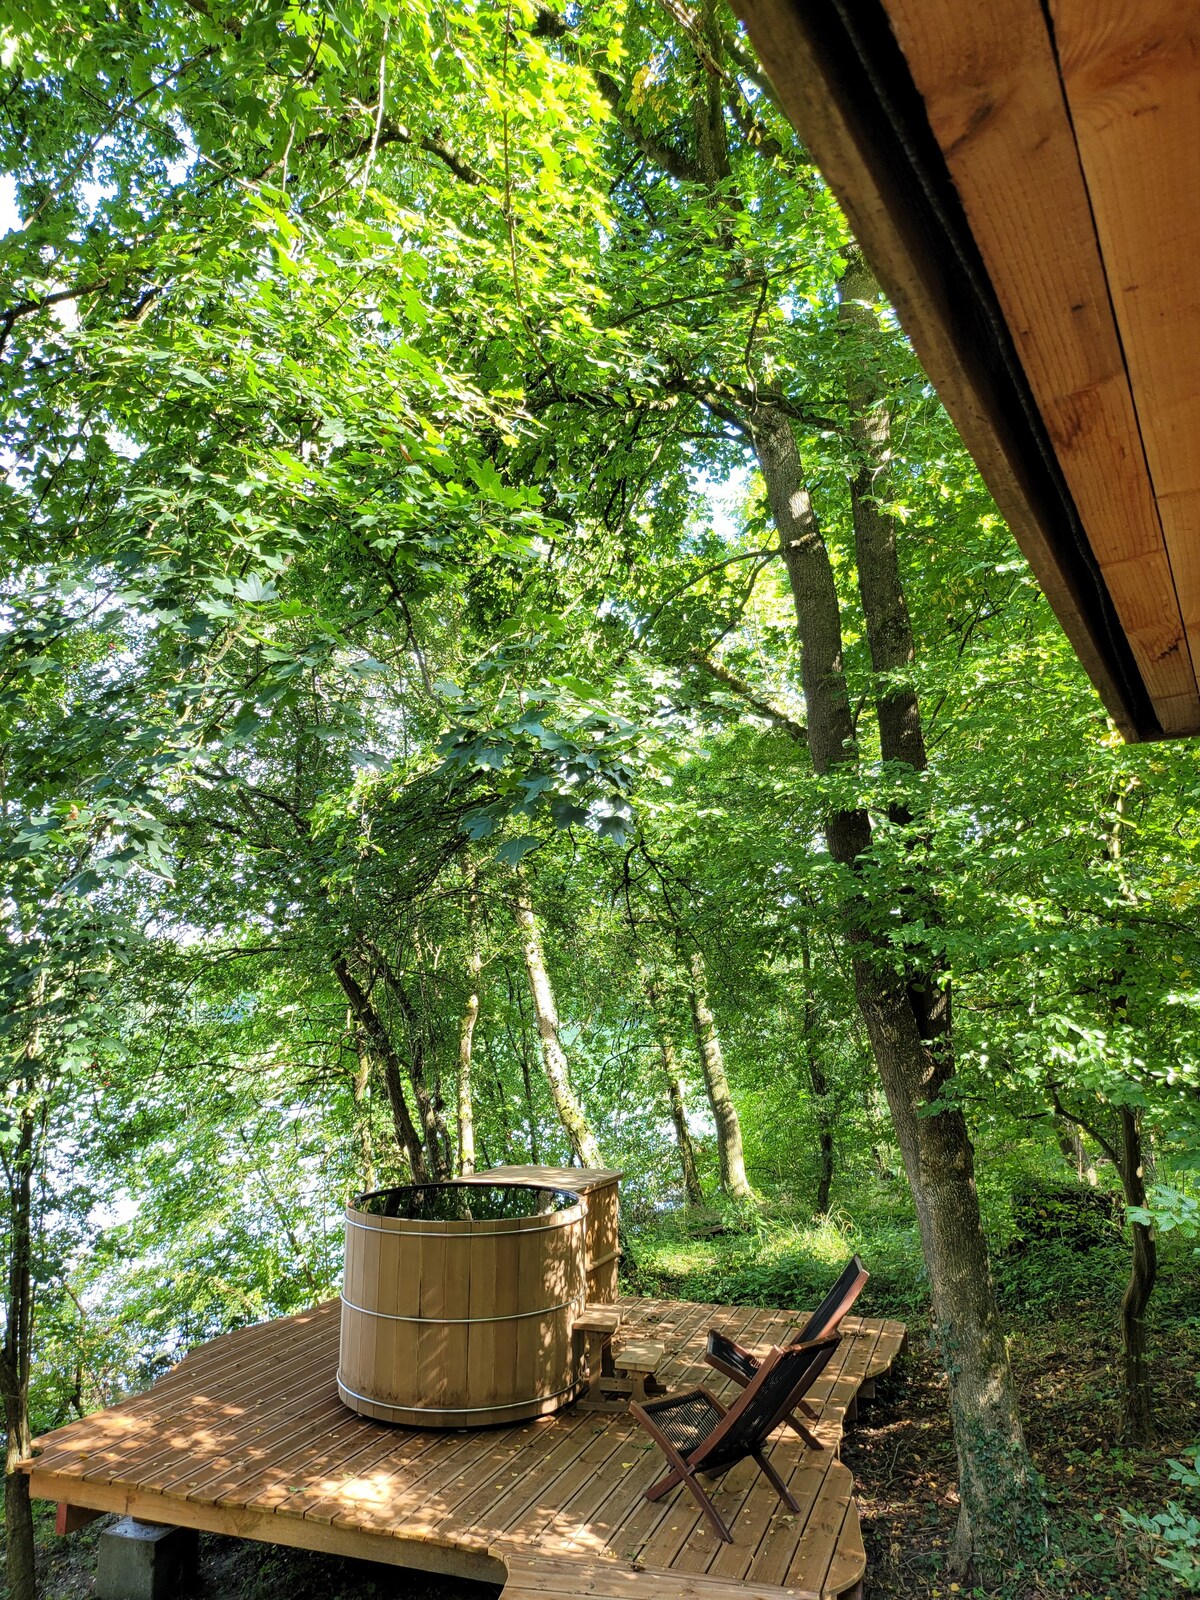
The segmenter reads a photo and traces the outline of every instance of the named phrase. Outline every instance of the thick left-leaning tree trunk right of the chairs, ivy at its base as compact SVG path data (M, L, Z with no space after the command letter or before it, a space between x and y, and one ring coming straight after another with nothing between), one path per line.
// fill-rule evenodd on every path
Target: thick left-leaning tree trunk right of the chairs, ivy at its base
M813 766L824 778L856 760L834 571L790 422L760 406L754 440L795 602ZM861 882L872 842L867 813L830 810L824 832L834 861ZM866 893L859 886L846 896L843 925L912 1189L949 1376L962 1504L954 1565L963 1571L974 1558L989 1578L1029 1558L1045 1514L992 1293L966 1123L954 1106L930 1114L954 1074L949 992L931 974L901 978L891 970L891 952L869 931Z

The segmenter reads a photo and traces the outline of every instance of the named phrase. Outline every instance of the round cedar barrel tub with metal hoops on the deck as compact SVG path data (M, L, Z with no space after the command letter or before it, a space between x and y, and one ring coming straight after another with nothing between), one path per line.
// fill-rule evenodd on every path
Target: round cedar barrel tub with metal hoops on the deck
M486 1427L584 1389L586 1202L533 1184L378 1189L346 1208L338 1394L408 1427Z

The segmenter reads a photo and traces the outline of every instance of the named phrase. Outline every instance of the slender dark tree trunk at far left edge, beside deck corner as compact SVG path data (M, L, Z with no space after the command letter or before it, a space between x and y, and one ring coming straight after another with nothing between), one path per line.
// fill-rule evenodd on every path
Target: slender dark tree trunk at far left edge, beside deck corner
M29 1107L18 1114L18 1142L5 1155L8 1187L8 1283L5 1336L0 1344L0 1390L5 1410L5 1574L10 1600L35 1600L34 1515L29 1478L18 1461L29 1459L29 1370L34 1342L34 1134Z

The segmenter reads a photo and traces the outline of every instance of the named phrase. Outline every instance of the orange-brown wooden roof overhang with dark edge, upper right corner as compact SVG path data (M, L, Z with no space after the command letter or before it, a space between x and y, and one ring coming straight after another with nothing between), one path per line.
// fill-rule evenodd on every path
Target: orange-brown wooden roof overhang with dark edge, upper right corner
M1200 8L734 3L1118 728L1200 733Z

